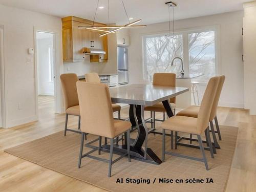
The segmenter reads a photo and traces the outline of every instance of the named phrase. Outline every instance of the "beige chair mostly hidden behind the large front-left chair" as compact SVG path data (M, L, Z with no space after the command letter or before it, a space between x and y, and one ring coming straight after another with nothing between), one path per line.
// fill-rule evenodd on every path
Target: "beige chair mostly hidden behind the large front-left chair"
M86 74L86 81L87 82L96 82L100 83L100 78L98 73L87 73ZM112 110L113 112L117 112L117 119L121 119L121 106L118 104L113 104L112 103ZM117 138L116 144L118 145L119 138ZM123 136L122 136L122 142L123 142ZM105 144L106 144L106 139L105 139Z

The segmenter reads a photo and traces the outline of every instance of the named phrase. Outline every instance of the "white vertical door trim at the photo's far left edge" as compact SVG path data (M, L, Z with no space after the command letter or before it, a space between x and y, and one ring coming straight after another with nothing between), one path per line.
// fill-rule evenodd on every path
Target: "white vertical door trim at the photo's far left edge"
M5 91L5 59L4 59L4 26L0 25L0 127L6 127L7 124L7 104Z

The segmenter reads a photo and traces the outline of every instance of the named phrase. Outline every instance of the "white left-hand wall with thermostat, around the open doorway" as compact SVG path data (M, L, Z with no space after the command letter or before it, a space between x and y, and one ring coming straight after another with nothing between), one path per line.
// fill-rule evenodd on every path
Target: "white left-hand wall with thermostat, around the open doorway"
M35 62L28 54L28 48L34 48L34 28L58 33L56 65L62 66L62 24L58 17L0 5L0 25L4 26L6 127L12 127L37 120ZM60 92L60 87L56 89Z

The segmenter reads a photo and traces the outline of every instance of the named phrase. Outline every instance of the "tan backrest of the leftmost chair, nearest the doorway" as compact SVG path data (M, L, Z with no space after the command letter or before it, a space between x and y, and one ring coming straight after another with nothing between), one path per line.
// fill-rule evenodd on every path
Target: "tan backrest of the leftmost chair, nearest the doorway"
M66 110L71 106L79 105L76 89L76 82L78 81L77 75L74 73L61 74L60 80Z

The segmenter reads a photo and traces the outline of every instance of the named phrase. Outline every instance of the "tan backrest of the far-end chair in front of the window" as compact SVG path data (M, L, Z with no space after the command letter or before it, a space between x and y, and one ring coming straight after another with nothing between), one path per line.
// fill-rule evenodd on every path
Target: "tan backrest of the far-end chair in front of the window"
M176 87L175 73L155 73L153 76L153 86ZM176 97L170 98L170 102L176 103Z

